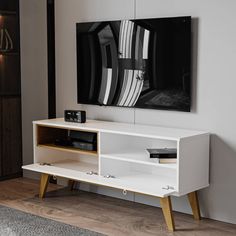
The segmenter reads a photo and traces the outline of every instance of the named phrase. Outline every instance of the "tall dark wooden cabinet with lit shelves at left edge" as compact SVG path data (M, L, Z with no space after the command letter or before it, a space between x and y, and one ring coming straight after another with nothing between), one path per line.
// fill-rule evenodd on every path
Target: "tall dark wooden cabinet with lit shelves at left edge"
M0 1L0 180L22 164L19 0Z

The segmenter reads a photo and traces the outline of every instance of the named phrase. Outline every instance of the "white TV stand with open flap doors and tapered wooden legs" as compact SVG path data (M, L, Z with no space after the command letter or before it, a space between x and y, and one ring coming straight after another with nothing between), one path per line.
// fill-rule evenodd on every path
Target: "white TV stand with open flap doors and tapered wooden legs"
M201 131L88 120L85 124L51 119L33 122L34 164L41 173L43 198L50 176L103 185L160 198L169 230L174 230L170 196L188 194L200 219L196 191L209 185L209 134ZM70 130L97 134L97 151L56 146ZM177 148L177 164L158 164L146 148ZM42 165L47 163L51 165ZM40 165L41 164L41 165Z

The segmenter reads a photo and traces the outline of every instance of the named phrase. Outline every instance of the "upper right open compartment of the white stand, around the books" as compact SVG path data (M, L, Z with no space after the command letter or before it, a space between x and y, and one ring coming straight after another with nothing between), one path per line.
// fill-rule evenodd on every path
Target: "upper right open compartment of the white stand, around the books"
M147 148L177 147L178 143L174 140L101 133L101 157L107 159L177 169L178 152L176 163L159 164L157 159L150 158L147 151Z

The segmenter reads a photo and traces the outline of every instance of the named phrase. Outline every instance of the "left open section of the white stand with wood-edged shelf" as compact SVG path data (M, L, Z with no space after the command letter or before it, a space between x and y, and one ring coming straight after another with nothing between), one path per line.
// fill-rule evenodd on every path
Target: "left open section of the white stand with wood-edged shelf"
M67 139L70 129L34 124L34 166L55 173L77 171L99 172L98 151L86 151L71 146L55 144L57 139ZM97 134L96 134L97 135ZM96 136L97 138L97 136ZM98 150L98 148L97 148Z

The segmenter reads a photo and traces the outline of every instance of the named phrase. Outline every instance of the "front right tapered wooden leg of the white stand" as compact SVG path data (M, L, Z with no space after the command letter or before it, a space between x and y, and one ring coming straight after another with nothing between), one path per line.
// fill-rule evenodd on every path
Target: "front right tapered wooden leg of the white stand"
M161 203L162 212L165 217L165 221L166 221L166 225L168 227L168 230L174 231L175 224L174 224L174 218L172 215L172 205L171 205L170 197L160 198L160 203Z

